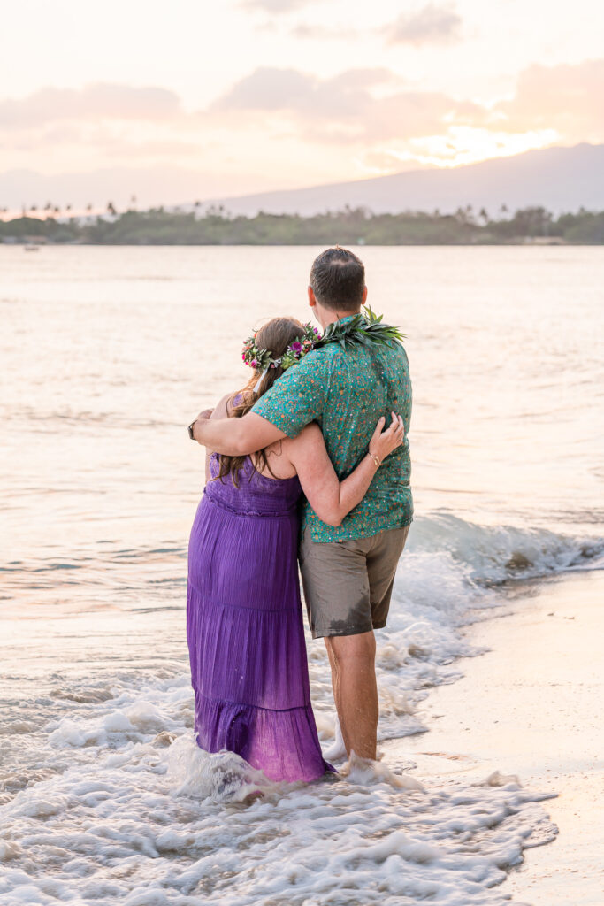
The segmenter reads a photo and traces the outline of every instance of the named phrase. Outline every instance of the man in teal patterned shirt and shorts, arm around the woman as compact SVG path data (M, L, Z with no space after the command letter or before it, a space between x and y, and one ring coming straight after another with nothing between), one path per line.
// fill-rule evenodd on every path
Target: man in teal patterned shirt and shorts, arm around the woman
M328 248L312 265L309 304L323 330L346 323L367 299L365 268L346 249ZM317 421L340 478L367 455L376 422L391 411L405 423L405 445L379 465L367 496L341 525L321 523L308 504L300 566L312 637L323 638L346 750L376 757L378 689L374 630L386 625L398 558L413 517L407 433L411 382L400 343L331 342L285 371L242 419L206 419L193 437L207 448L243 456L295 437Z

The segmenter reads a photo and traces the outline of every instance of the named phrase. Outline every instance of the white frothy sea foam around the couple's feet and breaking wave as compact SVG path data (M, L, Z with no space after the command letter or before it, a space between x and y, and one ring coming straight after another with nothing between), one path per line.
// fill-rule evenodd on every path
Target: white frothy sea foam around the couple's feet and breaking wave
M461 630L509 606L513 579L594 565L603 549L541 530L417 519L378 633L379 739L429 729L418 703L460 676L460 659L477 653ZM308 644L327 749L329 665L321 642ZM14 757L27 751L29 775L13 786L4 776L13 792L0 806L3 906L499 906L505 872L555 834L545 796L497 765L474 786L351 758L341 776L288 786L232 753L203 752L186 661L73 686L53 674L35 706L43 715L52 703L49 718L4 737ZM29 720L26 709L18 719Z

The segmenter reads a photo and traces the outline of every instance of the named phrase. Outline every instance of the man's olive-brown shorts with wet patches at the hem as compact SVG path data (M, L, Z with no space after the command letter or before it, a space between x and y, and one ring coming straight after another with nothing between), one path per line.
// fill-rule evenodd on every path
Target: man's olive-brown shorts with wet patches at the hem
M386 625L408 532L405 525L369 538L320 544L306 526L299 558L313 639L359 635Z

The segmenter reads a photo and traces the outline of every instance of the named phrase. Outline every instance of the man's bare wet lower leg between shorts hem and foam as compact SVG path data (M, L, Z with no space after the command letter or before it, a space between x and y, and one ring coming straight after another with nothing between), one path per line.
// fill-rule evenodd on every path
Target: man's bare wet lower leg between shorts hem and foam
M375 760L379 704L373 631L334 635L325 639L325 647L346 751L350 755L353 749L361 758Z

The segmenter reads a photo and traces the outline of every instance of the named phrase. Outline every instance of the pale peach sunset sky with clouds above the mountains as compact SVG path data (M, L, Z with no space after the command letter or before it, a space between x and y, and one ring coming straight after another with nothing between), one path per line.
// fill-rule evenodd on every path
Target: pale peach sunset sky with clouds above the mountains
M604 142L602 35L599 0L19 0L0 34L0 207Z

